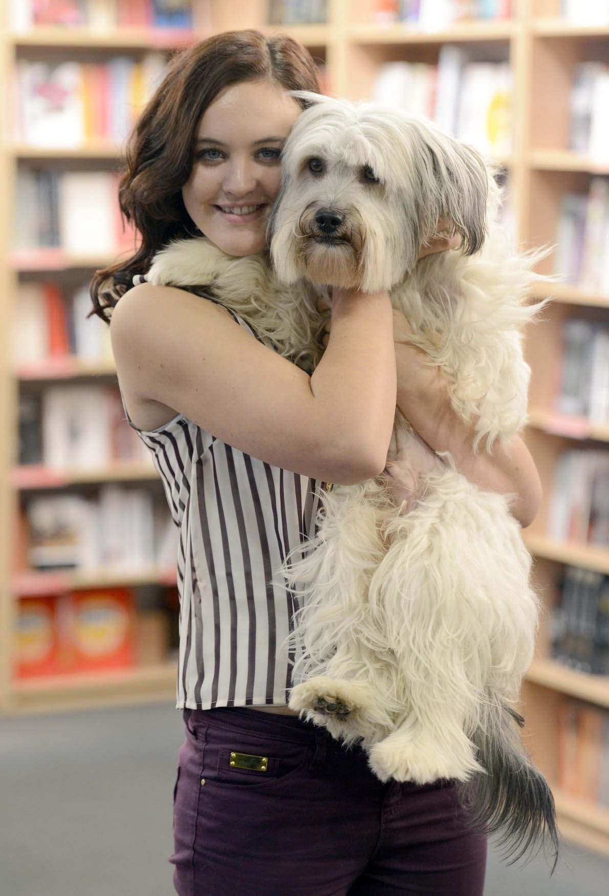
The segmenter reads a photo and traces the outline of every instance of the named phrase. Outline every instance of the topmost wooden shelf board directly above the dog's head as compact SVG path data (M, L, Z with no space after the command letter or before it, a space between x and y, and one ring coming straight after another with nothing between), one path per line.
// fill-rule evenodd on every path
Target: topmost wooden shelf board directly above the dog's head
M407 25L354 24L347 39L361 45L444 44L509 40L518 30L516 22L467 22L450 30L422 31Z

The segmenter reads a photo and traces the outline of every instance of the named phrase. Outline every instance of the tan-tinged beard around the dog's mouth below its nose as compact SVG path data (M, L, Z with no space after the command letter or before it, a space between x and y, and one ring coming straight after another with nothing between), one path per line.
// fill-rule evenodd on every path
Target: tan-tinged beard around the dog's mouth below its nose
M349 222L331 236L315 224L315 211L307 210L299 221L296 243L298 266L312 283L343 289L357 288L362 280L364 228Z

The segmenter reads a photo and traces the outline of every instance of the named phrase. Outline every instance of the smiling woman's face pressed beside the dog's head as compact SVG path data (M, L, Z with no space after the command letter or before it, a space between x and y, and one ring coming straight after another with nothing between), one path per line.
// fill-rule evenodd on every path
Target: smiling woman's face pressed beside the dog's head
M186 211L229 255L262 252L279 192L279 153L301 107L278 84L227 87L202 115L193 169L182 187Z

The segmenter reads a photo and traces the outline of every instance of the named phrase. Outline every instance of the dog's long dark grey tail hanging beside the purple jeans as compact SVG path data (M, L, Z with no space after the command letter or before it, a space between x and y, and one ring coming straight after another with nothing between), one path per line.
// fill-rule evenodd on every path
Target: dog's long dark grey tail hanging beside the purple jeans
M503 857L517 862L537 844L559 857L559 835L552 791L533 764L514 721L524 719L507 703L489 695L484 702L480 725L470 736L478 761L485 772L476 772L459 783L459 797L472 826L487 834L498 834Z

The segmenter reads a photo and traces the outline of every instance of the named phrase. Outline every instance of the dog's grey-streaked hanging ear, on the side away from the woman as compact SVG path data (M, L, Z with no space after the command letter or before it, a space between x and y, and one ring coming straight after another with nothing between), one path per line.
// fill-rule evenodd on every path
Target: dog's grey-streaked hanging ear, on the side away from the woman
M435 217L429 221L431 229L439 218L451 220L463 241L463 253L473 255L482 248L488 228L490 175L485 160L474 147L460 143L448 134L433 136L435 139L425 140L425 175L433 177L435 193L433 211L425 210Z

